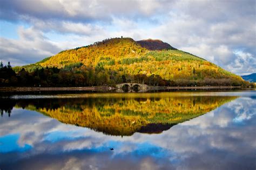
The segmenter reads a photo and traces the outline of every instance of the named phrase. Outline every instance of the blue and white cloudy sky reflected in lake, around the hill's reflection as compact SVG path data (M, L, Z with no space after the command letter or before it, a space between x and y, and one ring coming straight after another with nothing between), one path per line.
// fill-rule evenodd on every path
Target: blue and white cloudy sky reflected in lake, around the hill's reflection
M11 117L4 114L0 118L0 136L18 134L17 146L31 148L0 150L0 167L253 169L255 106L255 97L242 96L160 134L135 132L123 137L63 124L36 111L14 108Z

